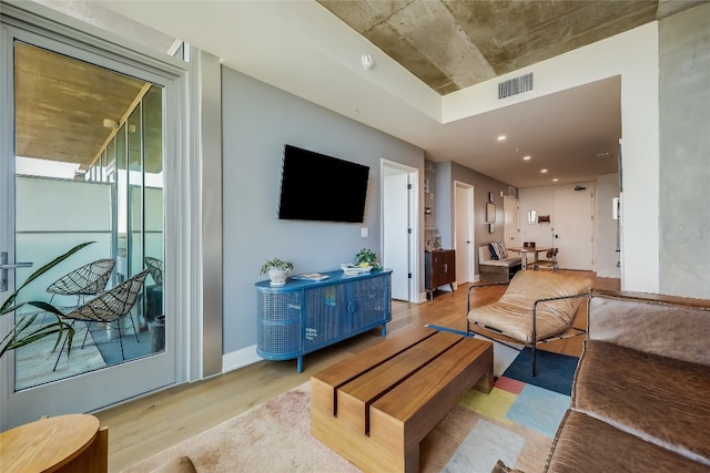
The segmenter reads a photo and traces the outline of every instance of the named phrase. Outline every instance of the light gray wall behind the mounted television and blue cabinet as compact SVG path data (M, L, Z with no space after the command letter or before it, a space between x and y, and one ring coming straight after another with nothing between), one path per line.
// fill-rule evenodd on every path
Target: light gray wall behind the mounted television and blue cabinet
M278 257L294 273L328 271L363 247L381 256L381 158L422 169L424 152L368 126L272 88L222 70L224 352L256 343L254 284L266 259ZM369 166L363 224L277 218L284 144ZM327 176L323 176L324 179ZM343 183L343 193L347 192ZM337 199L313 189L313 204ZM361 228L368 227L363 238Z

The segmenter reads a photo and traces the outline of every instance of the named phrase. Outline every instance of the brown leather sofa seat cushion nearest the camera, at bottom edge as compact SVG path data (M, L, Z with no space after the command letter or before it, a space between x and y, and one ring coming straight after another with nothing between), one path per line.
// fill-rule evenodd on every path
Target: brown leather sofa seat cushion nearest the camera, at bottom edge
M645 442L598 419L567 411L557 431L547 472L694 472L690 459Z

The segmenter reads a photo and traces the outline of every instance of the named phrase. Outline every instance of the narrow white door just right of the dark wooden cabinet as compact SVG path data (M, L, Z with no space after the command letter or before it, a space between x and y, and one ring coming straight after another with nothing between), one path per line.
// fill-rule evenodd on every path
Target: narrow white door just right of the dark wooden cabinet
M456 282L473 282L474 267L474 186L460 182L456 187Z

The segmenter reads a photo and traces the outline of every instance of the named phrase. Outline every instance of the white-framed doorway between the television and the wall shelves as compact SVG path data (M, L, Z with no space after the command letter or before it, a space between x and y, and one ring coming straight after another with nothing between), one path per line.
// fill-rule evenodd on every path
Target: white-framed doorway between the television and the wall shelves
M382 260L392 269L392 298L416 302L418 171L383 160L382 176Z

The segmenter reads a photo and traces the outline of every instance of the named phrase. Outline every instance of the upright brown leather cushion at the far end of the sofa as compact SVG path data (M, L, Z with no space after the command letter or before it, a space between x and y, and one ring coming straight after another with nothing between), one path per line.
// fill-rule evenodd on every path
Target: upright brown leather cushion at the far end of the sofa
M633 350L710 366L710 300L595 290L588 337Z

